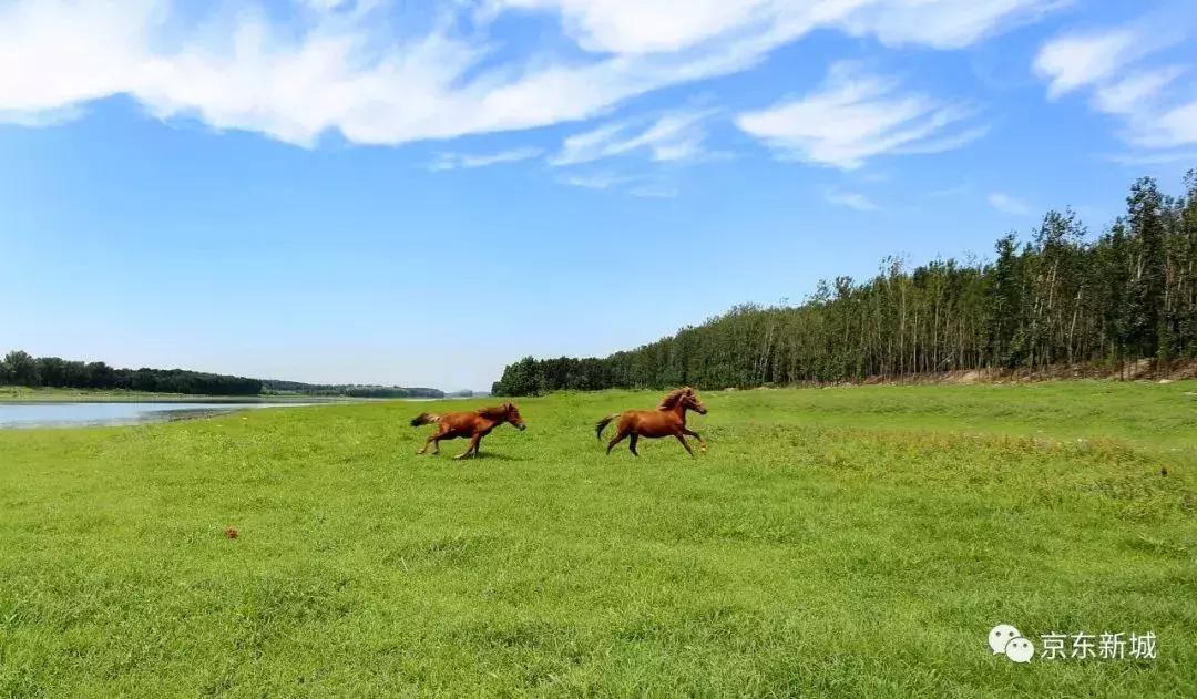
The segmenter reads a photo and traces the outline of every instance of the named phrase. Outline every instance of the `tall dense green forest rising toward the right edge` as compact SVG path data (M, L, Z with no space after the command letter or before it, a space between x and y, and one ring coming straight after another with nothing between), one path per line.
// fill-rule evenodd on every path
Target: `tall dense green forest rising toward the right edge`
M1090 236L1051 211L990 260L822 281L800 305L743 305L607 358L506 366L497 395L560 389L718 389L904 378L973 369L1040 370L1150 359L1165 371L1197 357L1197 171L1180 196L1137 181L1126 212Z

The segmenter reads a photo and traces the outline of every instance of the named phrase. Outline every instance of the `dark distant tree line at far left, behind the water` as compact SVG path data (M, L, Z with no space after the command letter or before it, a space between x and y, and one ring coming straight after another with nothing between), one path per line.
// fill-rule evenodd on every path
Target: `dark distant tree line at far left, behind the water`
M0 385L123 389L146 393L257 395L262 382L184 369L114 369L103 361L34 357L14 350L0 361Z

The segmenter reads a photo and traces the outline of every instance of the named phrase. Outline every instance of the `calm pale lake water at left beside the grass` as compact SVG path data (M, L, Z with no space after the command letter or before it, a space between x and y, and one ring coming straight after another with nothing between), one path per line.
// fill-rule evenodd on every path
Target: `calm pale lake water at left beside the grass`
M259 408L296 408L299 402L18 402L0 403L0 428L139 425Z

